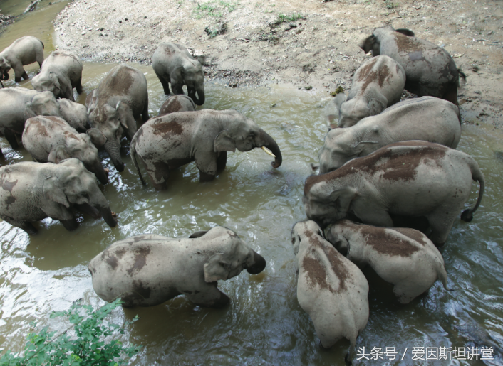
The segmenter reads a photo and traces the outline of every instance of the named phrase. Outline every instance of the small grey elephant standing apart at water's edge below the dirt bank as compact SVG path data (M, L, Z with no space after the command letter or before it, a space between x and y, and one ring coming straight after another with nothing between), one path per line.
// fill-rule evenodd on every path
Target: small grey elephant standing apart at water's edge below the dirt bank
M165 94L170 94L169 83L175 95L184 94L183 85L187 85L188 95L195 104L204 104L204 71L187 48L176 43L161 43L152 55L152 68Z

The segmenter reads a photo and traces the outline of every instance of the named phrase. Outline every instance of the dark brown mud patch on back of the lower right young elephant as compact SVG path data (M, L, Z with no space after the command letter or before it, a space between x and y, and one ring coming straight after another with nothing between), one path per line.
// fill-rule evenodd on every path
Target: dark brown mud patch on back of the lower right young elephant
M410 257L419 250L418 247L410 244L407 240L393 235L393 232L388 232L382 227L367 225L361 232L367 245L381 254L393 257Z

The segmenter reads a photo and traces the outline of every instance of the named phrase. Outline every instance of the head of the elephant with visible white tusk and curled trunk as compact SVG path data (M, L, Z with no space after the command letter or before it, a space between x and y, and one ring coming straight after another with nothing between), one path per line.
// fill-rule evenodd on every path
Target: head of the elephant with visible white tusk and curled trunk
M268 154L275 157L271 163L274 168L279 168L283 158L276 141L261 129L252 119L244 117L239 112L228 110L220 114L224 130L220 131L214 139L214 151L250 151L256 147L266 148ZM264 149L264 151L266 151ZM267 151L266 151L267 152Z

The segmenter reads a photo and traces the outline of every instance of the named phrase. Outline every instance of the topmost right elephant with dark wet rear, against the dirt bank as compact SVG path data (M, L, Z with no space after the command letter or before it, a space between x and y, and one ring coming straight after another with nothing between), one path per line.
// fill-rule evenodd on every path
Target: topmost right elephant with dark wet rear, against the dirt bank
M387 55L405 70L405 90L419 97L430 95L457 104L460 76L449 53L442 47L416 38L409 29L392 26L375 28L372 36L365 38L360 47L373 56Z

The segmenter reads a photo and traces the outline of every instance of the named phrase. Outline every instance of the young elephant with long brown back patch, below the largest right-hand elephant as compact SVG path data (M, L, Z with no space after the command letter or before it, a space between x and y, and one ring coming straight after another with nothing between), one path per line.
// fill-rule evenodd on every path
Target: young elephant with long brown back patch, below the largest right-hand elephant
M341 220L328 229L327 239L358 267L368 265L381 279L393 284L400 303L410 303L437 279L447 289L442 254L418 230Z

